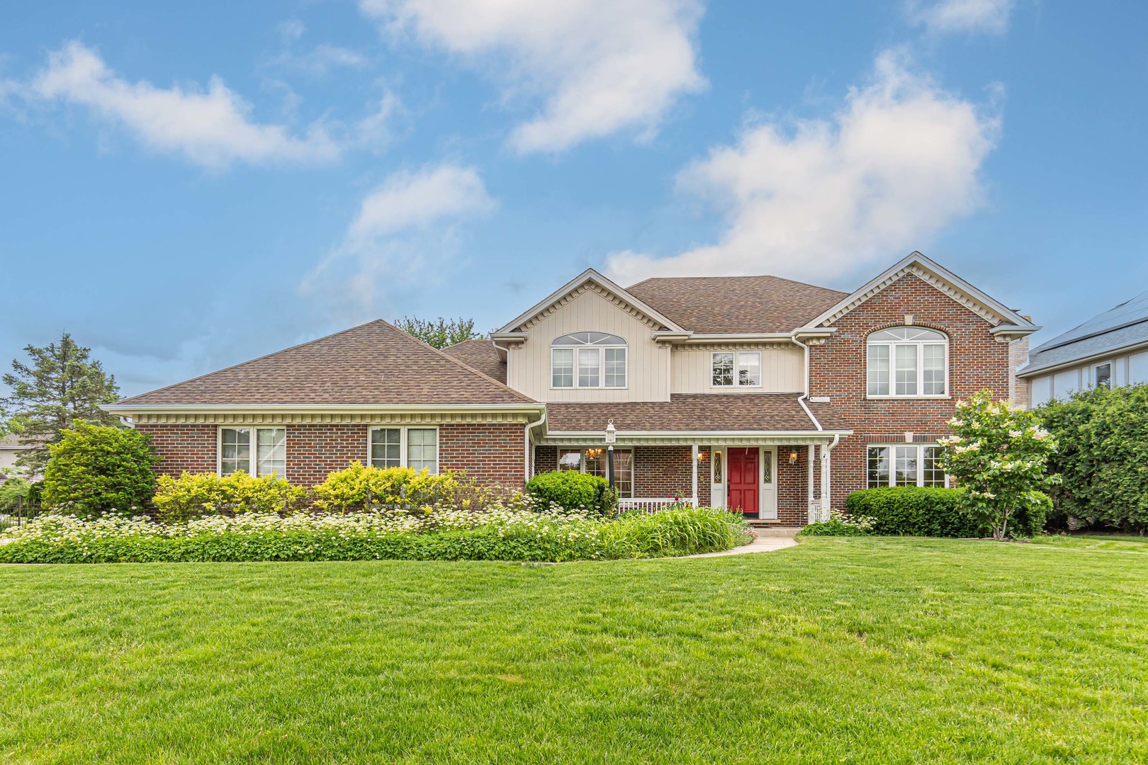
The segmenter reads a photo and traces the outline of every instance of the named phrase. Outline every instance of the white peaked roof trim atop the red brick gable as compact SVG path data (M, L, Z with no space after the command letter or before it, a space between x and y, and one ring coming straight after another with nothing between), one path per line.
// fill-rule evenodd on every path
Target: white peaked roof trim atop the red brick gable
M1030 320L1025 319L1016 311L1013 311L1000 300L990 297L956 274L944 268L939 264L930 260L920 252L913 252L892 267L878 274L861 288L850 292L838 303L827 309L817 318L805 325L806 328L828 327L844 317L846 313L858 307L874 295L899 280L906 274L913 274L937 288L961 305L964 305L974 313L980 315L985 321L995 326L1009 326L1016 329L1016 334L1031 334L1040 329Z

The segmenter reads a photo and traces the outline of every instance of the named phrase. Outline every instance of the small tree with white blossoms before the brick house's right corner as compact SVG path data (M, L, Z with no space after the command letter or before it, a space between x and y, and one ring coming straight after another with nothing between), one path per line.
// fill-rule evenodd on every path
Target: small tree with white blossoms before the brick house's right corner
M1019 515L1030 526L1042 525L1049 504L1042 490L1058 478L1046 470L1056 439L1040 427L1038 416L982 391L956 403L948 426L953 435L940 439L941 459L945 471L964 489L964 508L992 529L994 539L1004 539L1009 521Z

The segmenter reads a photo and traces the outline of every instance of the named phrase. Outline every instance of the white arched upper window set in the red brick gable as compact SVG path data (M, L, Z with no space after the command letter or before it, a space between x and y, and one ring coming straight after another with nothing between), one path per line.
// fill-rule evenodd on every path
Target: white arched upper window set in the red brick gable
M924 327L893 327L869 335L870 397L948 395L948 338Z

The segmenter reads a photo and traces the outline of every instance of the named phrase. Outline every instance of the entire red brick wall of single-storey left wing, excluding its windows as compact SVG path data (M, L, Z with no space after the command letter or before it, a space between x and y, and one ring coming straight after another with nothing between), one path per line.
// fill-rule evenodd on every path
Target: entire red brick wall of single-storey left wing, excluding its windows
M287 429L287 479L313 486L327 474L355 460L367 460L366 424L294 423ZM152 435L162 461L160 475L215 473L218 427L215 424L139 424ZM442 423L439 426L441 469L466 471L487 484L522 486L523 427L514 423Z

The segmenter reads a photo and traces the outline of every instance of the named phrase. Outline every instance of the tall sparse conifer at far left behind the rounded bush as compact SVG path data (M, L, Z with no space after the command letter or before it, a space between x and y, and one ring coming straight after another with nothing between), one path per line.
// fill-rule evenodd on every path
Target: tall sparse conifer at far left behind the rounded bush
M20 437L20 468L42 475L48 462L47 445L60 440L60 432L77 420L103 426L117 426L116 415L100 408L119 398L116 378L103 372L99 361L91 360L91 349L80 348L63 333L57 343L46 348L24 349L29 364L11 362L11 373L3 376L10 395L0 399L0 412L8 428Z

